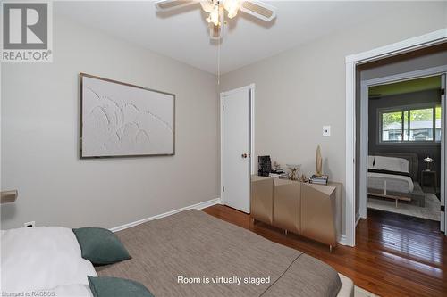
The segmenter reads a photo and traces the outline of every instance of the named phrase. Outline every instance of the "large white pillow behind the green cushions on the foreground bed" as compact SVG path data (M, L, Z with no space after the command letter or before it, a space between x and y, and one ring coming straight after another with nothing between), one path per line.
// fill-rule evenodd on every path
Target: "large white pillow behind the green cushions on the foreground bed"
M1 245L2 292L89 285L87 276L97 276L90 261L80 256L80 245L69 228L2 230Z

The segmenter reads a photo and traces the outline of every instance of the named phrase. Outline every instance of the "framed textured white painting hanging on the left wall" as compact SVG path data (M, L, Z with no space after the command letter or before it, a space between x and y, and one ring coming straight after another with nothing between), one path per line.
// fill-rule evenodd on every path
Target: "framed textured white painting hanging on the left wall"
M80 74L80 157L174 153L175 96Z

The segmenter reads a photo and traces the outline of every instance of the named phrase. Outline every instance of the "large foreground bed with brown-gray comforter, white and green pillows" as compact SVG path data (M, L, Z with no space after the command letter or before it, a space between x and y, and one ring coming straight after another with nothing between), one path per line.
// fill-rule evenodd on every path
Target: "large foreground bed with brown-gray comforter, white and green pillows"
M96 227L2 230L0 242L0 291L8 296L347 297L354 290L320 260L200 210L116 234Z

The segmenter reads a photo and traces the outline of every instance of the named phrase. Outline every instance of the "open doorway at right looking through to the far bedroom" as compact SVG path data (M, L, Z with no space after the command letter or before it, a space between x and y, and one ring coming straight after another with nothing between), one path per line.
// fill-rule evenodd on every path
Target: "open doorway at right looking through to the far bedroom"
M444 231L446 61L443 43L357 66L355 226L374 210Z

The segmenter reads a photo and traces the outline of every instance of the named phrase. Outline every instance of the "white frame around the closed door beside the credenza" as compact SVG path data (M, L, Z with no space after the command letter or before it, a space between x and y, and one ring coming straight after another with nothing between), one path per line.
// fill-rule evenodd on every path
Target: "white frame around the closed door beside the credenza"
M255 174L255 162L253 161L254 155L255 155L255 84L249 84L249 86L245 86L245 87L238 87L238 88L234 88L232 90L228 90L228 91L224 91L221 92L220 96L219 96L219 110L220 110L220 134L221 134L221 149L220 149L220 154L221 154L221 162L220 162L220 167L221 167L221 185L220 185L220 191L221 191L221 204L224 204L225 202L225 194L223 191L223 185L224 185L224 180L223 180L223 121L224 121L224 112L223 112L223 96L225 95L231 95L232 93L236 93L236 92L240 92L241 90L248 90L249 91L249 104L250 104L250 108L249 108L249 123L250 123L250 147L249 147L249 163L250 163L250 174Z

